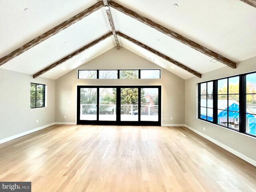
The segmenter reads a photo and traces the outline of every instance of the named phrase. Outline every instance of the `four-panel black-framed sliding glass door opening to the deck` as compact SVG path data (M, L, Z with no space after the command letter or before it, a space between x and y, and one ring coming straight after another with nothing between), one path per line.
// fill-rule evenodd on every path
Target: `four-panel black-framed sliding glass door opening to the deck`
M78 86L77 123L161 125L161 86Z

